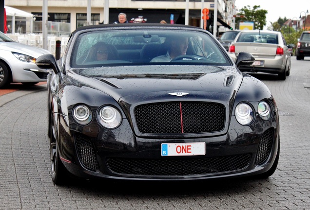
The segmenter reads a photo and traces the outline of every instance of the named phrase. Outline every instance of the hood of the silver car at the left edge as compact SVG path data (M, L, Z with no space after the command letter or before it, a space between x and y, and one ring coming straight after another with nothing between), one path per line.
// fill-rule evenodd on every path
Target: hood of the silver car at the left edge
M18 42L1 42L0 43L0 49L3 51L9 51L9 52L16 52L16 53L22 53L26 55L30 55L32 57L38 58L42 54L50 54L47 50L25 45Z

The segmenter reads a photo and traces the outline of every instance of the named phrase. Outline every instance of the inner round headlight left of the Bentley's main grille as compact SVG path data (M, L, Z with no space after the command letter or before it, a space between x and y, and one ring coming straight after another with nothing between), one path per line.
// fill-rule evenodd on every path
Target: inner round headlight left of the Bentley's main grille
M116 128L121 123L121 114L113 106L103 106L97 113L98 122L106 128Z

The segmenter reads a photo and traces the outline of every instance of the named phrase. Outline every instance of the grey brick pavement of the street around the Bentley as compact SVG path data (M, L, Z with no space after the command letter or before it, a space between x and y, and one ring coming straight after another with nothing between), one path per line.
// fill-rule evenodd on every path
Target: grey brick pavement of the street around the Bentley
M293 59L286 81L261 78L281 113L280 160L268 179L79 180L55 186L46 88L0 96L0 210L310 210L310 60ZM11 94L16 94L14 100Z

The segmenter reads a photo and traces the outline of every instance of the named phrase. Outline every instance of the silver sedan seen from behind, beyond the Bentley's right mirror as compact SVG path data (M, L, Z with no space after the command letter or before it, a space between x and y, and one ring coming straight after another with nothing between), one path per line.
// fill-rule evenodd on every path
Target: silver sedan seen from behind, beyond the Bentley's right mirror
M291 53L281 32L243 30L228 51L233 60L240 52L251 53L255 58L251 66L240 67L241 71L278 74L280 80L290 75Z

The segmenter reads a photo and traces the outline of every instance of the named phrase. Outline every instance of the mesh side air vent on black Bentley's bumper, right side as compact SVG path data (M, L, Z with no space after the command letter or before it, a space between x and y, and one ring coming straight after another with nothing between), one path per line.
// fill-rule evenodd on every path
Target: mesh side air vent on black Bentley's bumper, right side
M256 157L257 165L263 163L268 158L273 142L273 129L267 130L260 140Z

